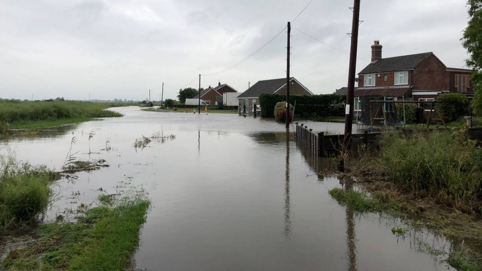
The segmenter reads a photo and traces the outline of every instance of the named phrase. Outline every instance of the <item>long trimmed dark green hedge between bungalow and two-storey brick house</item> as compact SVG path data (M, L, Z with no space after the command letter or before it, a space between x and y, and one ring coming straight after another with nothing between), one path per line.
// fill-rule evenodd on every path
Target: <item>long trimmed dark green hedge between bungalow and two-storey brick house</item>
M290 104L295 105L296 102L296 115L313 115L313 113L316 113L319 117L344 116L346 100L346 95L335 94L290 96ZM276 103L284 101L286 101L286 95L259 95L261 116L264 118L274 118L274 107L276 106Z

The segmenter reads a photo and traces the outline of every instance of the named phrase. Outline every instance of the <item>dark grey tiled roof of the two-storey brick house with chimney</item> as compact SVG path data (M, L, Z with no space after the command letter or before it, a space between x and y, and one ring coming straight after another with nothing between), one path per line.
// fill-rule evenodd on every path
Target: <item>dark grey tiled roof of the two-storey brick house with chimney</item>
M412 70L431 54L433 53L428 52L378 59L368 64L359 74Z

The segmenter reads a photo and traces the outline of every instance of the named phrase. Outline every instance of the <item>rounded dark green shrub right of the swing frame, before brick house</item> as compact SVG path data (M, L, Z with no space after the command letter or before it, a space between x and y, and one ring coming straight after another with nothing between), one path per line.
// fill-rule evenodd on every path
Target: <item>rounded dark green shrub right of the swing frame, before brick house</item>
M446 122L455 121L458 117L464 116L467 113L469 106L469 98L460 93L445 93L437 98L441 103L439 106L443 119Z

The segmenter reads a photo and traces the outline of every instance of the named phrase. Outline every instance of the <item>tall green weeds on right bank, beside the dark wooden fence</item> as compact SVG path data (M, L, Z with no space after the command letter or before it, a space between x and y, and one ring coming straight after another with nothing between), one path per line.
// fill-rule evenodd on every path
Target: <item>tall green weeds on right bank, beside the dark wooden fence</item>
M467 213L482 214L482 149L463 132L389 133L380 138L377 164L419 196L439 196Z

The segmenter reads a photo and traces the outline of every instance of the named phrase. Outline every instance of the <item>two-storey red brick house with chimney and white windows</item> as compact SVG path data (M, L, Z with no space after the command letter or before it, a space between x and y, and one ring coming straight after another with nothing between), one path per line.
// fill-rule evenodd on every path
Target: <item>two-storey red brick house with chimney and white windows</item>
M471 70L447 68L432 52L382 58L382 45L375 41L372 62L359 73L355 108L362 110L363 97L385 100L433 101L441 93L460 92L473 97Z

